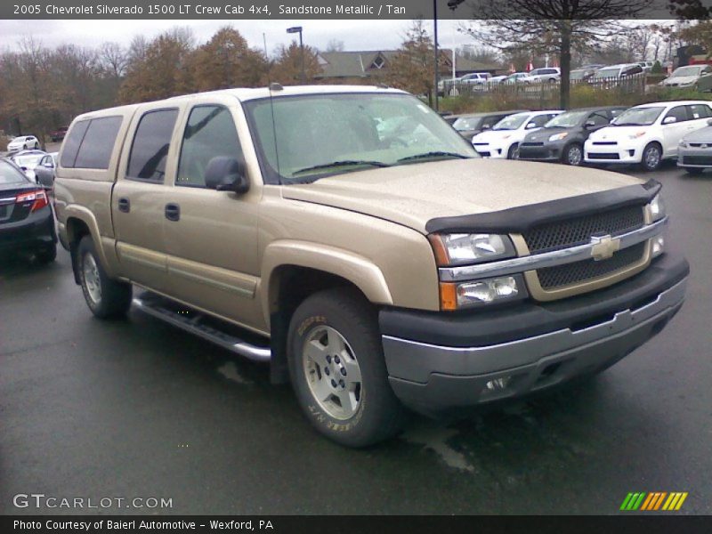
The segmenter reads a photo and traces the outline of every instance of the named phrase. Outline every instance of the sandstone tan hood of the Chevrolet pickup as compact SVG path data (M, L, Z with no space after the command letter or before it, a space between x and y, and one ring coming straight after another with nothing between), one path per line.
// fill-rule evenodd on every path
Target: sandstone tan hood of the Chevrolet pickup
M456 159L285 185L284 198L334 206L427 233L436 217L481 214L643 183L624 174L512 160Z

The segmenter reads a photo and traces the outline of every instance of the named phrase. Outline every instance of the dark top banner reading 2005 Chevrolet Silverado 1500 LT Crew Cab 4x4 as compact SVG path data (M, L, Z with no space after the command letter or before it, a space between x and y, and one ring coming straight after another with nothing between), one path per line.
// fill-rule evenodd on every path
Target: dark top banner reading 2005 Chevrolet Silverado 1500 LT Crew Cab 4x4
M701 19L710 0L9 0L14 20Z

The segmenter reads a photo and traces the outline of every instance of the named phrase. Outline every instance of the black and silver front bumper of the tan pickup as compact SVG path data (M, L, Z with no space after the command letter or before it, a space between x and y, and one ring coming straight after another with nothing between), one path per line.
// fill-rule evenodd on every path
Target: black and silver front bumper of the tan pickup
M594 373L665 327L683 304L688 273L684 259L663 255L631 279L552 303L462 315L384 310L393 392L429 414Z

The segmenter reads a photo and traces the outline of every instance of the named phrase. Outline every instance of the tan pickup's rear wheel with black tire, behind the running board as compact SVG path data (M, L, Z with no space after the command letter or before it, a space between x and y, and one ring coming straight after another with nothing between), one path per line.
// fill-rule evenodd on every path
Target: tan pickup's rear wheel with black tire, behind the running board
M93 292L93 289L90 289L87 285L85 262L88 266L91 265L91 261L93 261L93 265L96 267L93 276L98 280L98 284L93 285L93 287L100 287L98 298L95 296L96 292ZM84 293L86 304L92 313L100 319L124 317L131 307L131 284L109 279L106 271L104 271L104 267L101 265L91 236L85 236L79 241L77 262L82 292Z

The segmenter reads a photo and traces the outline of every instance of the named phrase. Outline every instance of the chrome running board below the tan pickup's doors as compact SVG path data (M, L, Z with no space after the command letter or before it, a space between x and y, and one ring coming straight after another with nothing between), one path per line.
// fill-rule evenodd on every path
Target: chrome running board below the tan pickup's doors
M142 312L190 332L190 334L202 337L206 341L220 345L248 360L270 361L271 359L269 341L266 346L247 343L228 331L237 330L237 327L223 323L224 329L221 329L219 323L223 321L216 320L182 304L174 303L160 295L145 292L135 297L133 303Z

